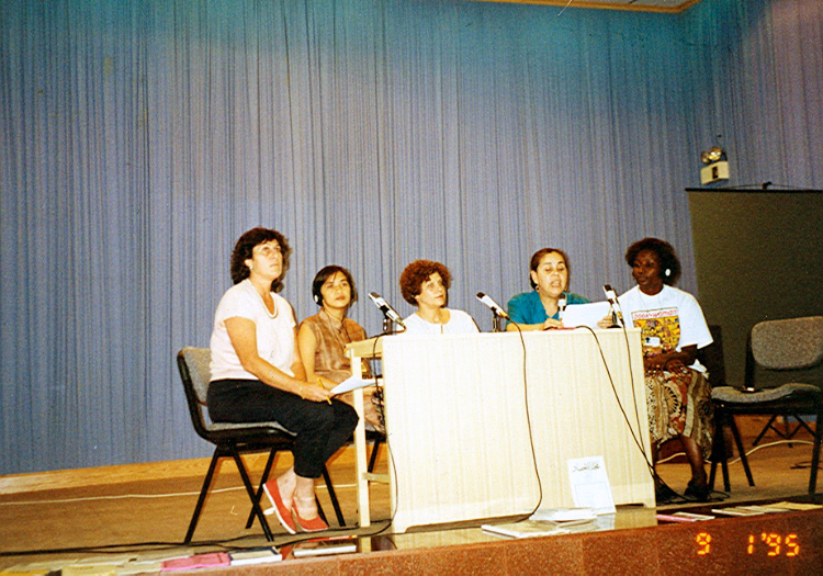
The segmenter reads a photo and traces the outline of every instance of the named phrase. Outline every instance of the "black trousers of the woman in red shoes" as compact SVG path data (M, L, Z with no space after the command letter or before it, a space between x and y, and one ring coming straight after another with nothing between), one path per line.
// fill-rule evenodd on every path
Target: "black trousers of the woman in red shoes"
M339 400L304 400L257 380L218 380L208 384L208 416L215 422L278 422L295 434L294 472L318 478L323 466L351 439L354 409Z

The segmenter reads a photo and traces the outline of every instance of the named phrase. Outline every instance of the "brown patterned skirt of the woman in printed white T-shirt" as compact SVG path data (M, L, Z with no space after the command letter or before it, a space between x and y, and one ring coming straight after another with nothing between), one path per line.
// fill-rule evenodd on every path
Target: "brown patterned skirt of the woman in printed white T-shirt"
M664 371L646 374L646 403L652 441L658 445L687 436L700 447L703 458L711 452L711 386L702 373Z

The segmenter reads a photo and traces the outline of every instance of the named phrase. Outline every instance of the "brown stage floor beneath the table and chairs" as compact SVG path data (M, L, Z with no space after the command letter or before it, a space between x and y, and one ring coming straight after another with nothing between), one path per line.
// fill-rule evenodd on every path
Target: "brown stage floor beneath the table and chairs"
M751 445L758 430L758 421L753 419L742 427L744 437L747 437L744 439L745 445ZM775 437L767 437L762 443L769 444L776 440ZM791 445L765 445L751 453L748 458L755 487L747 486L740 462L732 463L731 492L728 495L715 493L718 501L708 508L764 500L809 501L810 440L809 434L798 434ZM252 477L259 477L262 463L262 459L256 456L248 460ZM289 465L288 455L281 456L277 463L279 470ZM128 557L150 562L224 550L224 545L266 545L257 523L250 530L245 529L248 499L239 475L229 461L224 461L221 466L194 533L194 543L189 546L180 544L206 466L207 460L195 460L0 477L0 569L64 568L65 573L69 573L80 571L78 562L86 566L103 561L123 562ZM385 472L386 466L383 450L376 472ZM353 451L341 451L330 463L329 472L346 521L353 526L357 520ZM658 472L674 489L680 493L685 489L689 477L685 462L662 463ZM720 468L715 483L718 488L722 489ZM818 492L823 490L819 488ZM325 487L320 486L318 496L332 523L332 530L323 535L350 535L351 539L347 541L357 543L360 552L432 550L504 540L485 533L477 526L431 527L406 534L392 534L388 487L373 485L371 494L373 526L368 529L338 529ZM706 509L704 504L688 502L657 509L621 507L615 517L615 530L655 527L658 511ZM305 539L286 534L274 517L270 518L277 546ZM316 558L294 558L282 565L301 569L315 566L319 569L317 562Z

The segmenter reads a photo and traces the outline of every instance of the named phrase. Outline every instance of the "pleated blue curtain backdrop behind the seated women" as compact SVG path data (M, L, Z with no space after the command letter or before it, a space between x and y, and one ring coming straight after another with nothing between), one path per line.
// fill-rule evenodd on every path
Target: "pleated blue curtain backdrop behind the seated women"
M431 258L488 329L473 294L527 290L535 249L600 298L647 235L695 291L683 189L718 135L733 184L823 187L822 7L0 2L0 474L207 454L173 357L256 225L301 317L331 262L407 314Z

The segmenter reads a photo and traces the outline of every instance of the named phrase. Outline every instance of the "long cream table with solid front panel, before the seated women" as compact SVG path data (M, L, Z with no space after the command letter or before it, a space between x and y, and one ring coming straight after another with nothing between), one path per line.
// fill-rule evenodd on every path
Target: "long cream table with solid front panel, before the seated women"
M353 342L347 353L352 365L382 357L396 532L573 507L567 461L597 455L615 504L655 505L638 445L651 458L638 329L395 335ZM367 473L358 392L358 507L367 527L375 478Z

